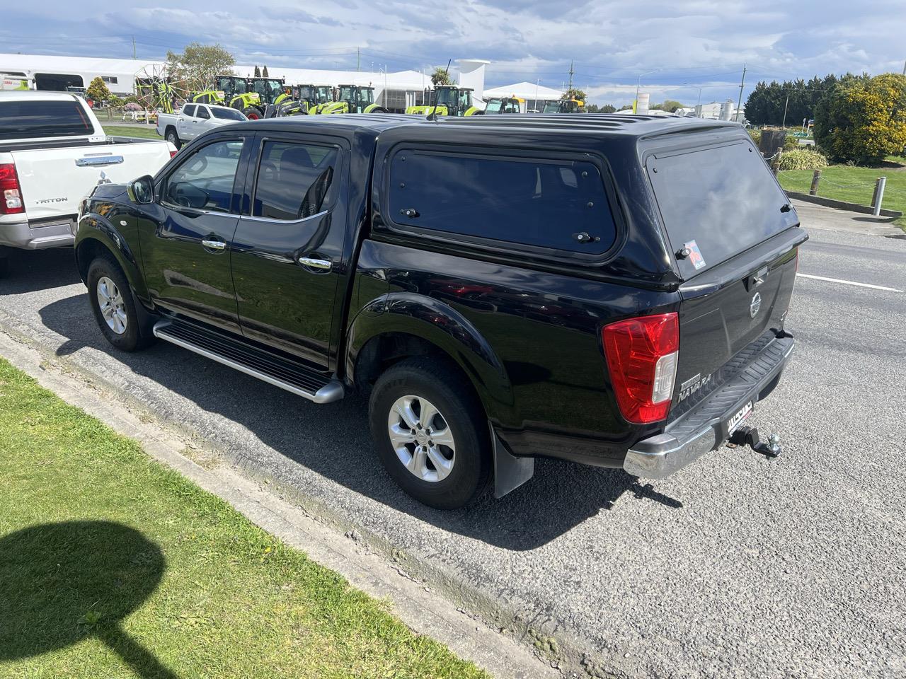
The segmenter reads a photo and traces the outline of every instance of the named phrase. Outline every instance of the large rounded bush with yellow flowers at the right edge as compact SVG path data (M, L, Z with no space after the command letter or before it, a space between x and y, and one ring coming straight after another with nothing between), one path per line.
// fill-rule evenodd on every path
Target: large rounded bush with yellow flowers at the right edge
M843 77L814 113L814 141L838 162L876 165L906 148L906 75Z

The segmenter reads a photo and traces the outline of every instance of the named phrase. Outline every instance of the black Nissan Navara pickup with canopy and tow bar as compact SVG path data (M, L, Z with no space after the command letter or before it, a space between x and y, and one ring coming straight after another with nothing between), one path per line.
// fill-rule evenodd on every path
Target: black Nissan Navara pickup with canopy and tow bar
M369 395L382 463L435 507L537 456L660 478L728 439L779 447L744 420L793 350L807 235L736 124L259 120L98 186L78 226L114 347Z

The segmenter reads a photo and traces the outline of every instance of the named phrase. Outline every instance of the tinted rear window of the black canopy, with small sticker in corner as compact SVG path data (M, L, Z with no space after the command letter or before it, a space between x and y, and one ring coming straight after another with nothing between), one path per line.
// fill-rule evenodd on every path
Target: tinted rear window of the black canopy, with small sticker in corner
M650 158L647 167L673 251L699 246L698 270L697 255L679 260L687 278L796 222L794 212L780 212L786 195L747 142Z

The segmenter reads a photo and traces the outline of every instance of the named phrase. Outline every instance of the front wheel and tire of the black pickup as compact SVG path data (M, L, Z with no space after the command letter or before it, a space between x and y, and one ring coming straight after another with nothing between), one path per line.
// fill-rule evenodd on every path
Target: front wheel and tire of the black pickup
M143 336L141 332L129 281L119 264L107 255L96 257L88 267L87 279L88 302L107 341L122 351L144 349L153 342L153 338ZM110 303L102 310L101 299L105 298Z

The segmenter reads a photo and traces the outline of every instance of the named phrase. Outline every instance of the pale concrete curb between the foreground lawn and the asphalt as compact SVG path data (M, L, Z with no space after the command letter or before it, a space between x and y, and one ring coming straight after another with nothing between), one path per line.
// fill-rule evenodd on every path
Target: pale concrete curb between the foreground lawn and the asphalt
M8 351L12 351L8 348L13 342L24 351L30 350L40 357L38 361L32 360L32 369L25 370L33 377L45 377L45 373L48 372L46 366L53 368L53 372L58 376L66 376L71 382L74 380L80 385L79 388L82 389L82 392L85 391L85 383L91 385L95 392L94 397L77 399L75 397L80 394L79 388L63 389L61 378L54 383L55 386L48 388L52 388L64 400L98 416L121 433L137 438L143 445L145 436L141 435L140 429L132 427L135 426L134 423L153 422L159 431L167 433L169 439L180 443L176 447L175 462L171 463L172 458L159 456L154 450L148 450L149 454L158 457L161 462L173 466L181 473L186 473L189 478L211 493L223 497L227 502L233 504L237 511L246 514L251 521L255 521L265 530L274 532L290 544L305 550L314 560L323 563L328 568L341 572L345 577L351 579L354 585L371 596L390 598L396 605L395 612L407 625L417 631L424 630L425 634L439 639L455 653L473 660L491 674L499 677L516 677L517 679L554 676L622 679L631 676L628 668L615 666L617 664L614 659L606 662L601 658L589 655L584 651L581 639L573 637L556 621L547 620L540 612L529 613L528 611L533 610L530 602L492 598L487 592L474 586L465 574L458 572L448 564L430 559L430 555L402 553L381 536L362 528L353 520L354 518L339 515L317 498L295 488L287 479L275 477L273 473L257 462L255 456L242 454L236 448L227 452L200 434L194 427L178 422L169 417L166 412L160 412L150 407L140 397L123 388L123 385L108 378L101 370L92 367L91 360L83 360L83 357L78 354L53 355L43 345L41 338L35 336L34 328L7 315L2 309L0 309L0 331L5 332L8 336L6 339L0 332L0 339L5 339L0 342L0 349L4 355L8 356ZM40 367L34 368L35 363ZM27 367L27 361L25 365ZM20 366L17 365L17 367ZM111 417L111 413L105 412L100 406L102 401L110 404L111 399L97 398L96 392L98 391L111 393L115 397L118 403L109 407L112 408L113 413L120 414L119 418ZM123 426L122 414L130 414L133 421L131 426ZM192 457L198 459L200 465L185 455L187 449L192 450ZM211 463L213 463L213 467L206 469L211 466ZM220 485L211 484L209 479L206 480L201 475L202 473L208 474L210 478L220 479ZM224 481L226 479L228 482ZM218 492L218 488L223 487L223 483L237 492L243 489L243 493L236 498L229 494L221 494ZM263 488L266 490L263 491ZM275 493L278 493L279 497ZM254 502L250 499L253 496L255 497ZM300 521L304 518L305 521L316 523L320 528L319 531L316 531L315 539L306 540L305 531L300 531L300 535L296 536L296 539L301 541L294 541L292 530L287 531L287 528L280 524L265 525L261 522L263 521L262 515L249 512L249 507L254 507L255 503L264 504L265 497L274 502L282 502L281 512L294 512ZM434 624L428 626L423 617L418 615L422 606L418 603L413 604L411 597L407 599L403 596L404 592L400 592L400 587L389 588L384 579L376 579L373 576L360 581L355 579L355 569L351 570L342 563L334 565L333 560L320 558L318 555L322 553L320 550L325 549L324 544L333 544L335 540L352 541L360 550L360 556L363 551L365 555L377 559L377 561L371 562L371 569L376 568L375 563L380 563L381 568L390 569L396 579L408 583L406 587L416 588L422 595L435 601L442 601L442 607L445 607L444 613L435 615ZM330 556L332 551L337 551L337 549L331 547L324 553ZM352 565L355 566L354 561ZM378 584L381 584L381 587L377 587ZM437 604L437 606L441 606L441 604ZM467 620L465 625L471 636L467 636L463 629L464 618ZM441 624L445 620L448 622L446 626ZM476 626L481 627L483 634L493 637L490 646L476 638L479 634ZM498 634L497 630L505 631L506 634ZM505 652L505 649L508 650ZM495 659L495 656L501 654L506 657L506 662L503 664L496 662Z

